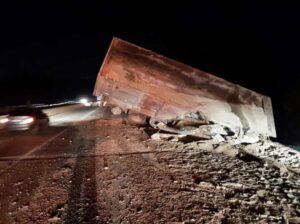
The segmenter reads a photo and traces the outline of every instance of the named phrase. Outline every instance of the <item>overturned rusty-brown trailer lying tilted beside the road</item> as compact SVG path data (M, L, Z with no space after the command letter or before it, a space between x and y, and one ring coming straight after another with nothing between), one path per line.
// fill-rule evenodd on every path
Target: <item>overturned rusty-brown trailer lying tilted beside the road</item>
M108 49L94 95L165 124L188 116L239 134L276 137L269 97L118 38Z

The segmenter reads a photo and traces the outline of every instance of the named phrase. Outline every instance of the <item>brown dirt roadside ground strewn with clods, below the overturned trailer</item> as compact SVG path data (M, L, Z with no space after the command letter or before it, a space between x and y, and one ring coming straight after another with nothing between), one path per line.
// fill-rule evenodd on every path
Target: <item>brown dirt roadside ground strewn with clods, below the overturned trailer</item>
M296 172L241 144L153 140L154 131L115 118L73 127L49 146L70 143L32 195L7 199L9 223L300 223Z

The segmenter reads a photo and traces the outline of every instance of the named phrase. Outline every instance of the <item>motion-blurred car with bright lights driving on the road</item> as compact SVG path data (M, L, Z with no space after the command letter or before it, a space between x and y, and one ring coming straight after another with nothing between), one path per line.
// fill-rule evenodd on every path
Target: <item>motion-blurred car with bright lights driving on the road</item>
M29 130L35 133L49 125L49 117L38 108L18 108L10 111L0 122L8 131Z

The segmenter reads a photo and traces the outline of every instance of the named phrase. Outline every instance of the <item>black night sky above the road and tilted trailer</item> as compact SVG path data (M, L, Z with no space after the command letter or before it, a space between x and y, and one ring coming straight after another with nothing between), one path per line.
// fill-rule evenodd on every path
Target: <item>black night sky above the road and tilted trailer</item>
M61 2L1 3L0 105L91 96L117 36L271 96L281 139L300 132L296 3Z

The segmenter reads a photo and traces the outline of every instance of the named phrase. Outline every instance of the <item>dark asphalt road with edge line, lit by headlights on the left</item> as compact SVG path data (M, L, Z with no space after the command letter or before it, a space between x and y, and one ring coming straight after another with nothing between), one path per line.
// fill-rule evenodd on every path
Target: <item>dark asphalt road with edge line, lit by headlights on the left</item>
M36 134L1 130L1 224L11 223L7 210L10 206L22 204L26 207L32 193L41 184L41 178L57 171L68 161L68 156L72 159L82 149L82 141L74 137L78 127L107 114L109 111L105 108L82 106L50 116L49 127Z

